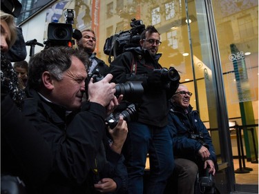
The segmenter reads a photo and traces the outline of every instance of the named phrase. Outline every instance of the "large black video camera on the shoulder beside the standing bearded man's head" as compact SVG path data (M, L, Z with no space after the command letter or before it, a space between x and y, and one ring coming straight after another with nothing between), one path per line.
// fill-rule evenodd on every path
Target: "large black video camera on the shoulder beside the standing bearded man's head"
M124 51L124 46L140 46L140 35L145 30L145 25L142 20L135 18L131 19L131 30L122 31L106 39L104 44L104 53L109 55L109 62L111 63L111 56L117 57Z

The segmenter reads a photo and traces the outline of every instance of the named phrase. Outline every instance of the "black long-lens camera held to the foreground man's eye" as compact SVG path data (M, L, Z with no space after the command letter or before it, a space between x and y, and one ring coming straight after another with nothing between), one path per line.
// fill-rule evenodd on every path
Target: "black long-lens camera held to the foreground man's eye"
M88 73L86 79L86 91L91 78L93 78L93 83L104 79L98 70L95 70L93 73ZM127 81L125 84L116 84L115 90L115 96L123 95L124 100L131 102L139 101L140 97L144 93L142 81Z

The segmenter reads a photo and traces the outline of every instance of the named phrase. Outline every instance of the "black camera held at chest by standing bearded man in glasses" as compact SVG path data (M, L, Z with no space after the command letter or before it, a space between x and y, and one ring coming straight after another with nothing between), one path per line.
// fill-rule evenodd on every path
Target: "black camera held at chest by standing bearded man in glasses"
M170 67L169 70L167 68L162 69L154 69L153 71L157 71L161 73L161 80L164 82L168 81L180 81L180 75L178 70L173 67Z

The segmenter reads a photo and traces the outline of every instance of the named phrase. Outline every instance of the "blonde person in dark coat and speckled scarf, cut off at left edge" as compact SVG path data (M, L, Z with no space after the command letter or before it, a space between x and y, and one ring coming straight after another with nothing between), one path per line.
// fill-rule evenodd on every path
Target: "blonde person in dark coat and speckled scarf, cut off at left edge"
M16 39L14 17L1 10L1 193L34 193L52 169L52 151L21 113L25 93L6 53ZM24 186L24 184L26 186ZM30 188L30 189L28 189Z

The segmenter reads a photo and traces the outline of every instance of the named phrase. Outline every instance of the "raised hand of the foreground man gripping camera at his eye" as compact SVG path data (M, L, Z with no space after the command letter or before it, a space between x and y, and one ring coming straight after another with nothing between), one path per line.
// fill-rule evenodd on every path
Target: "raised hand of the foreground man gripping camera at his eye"
M108 74L101 81L93 83L93 78L90 79L88 84L88 100L101 104L102 106L108 106L114 99L115 83L109 83L113 75Z

